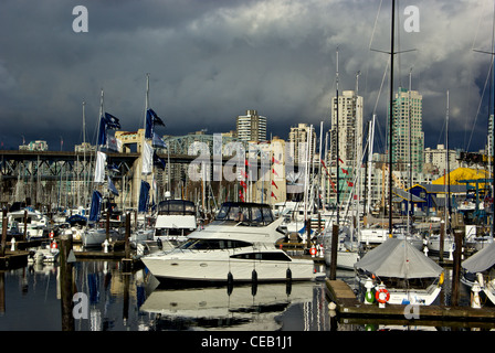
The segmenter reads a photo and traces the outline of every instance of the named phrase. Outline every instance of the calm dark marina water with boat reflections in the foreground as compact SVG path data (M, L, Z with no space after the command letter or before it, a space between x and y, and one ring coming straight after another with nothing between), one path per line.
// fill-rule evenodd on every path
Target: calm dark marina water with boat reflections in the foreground
M1 331L61 331L59 267L29 265L0 274ZM352 272L338 277L349 284ZM124 275L118 261L74 264L75 290L88 299L88 318L75 331L364 331L377 322L330 319L325 282L208 288L155 288L146 270ZM445 282L449 282L449 277ZM462 286L463 287L463 286ZM2 299L3 298L3 299ZM463 290L462 301L468 300ZM449 296L439 300L449 301ZM390 323L389 323L390 324ZM418 329L404 327L396 329ZM424 327L421 330L449 330Z

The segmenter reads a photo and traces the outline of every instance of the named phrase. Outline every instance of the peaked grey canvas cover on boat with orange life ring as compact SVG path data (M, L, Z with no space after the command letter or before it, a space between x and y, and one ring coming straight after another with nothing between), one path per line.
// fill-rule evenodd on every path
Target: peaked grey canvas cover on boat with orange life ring
M439 277L443 268L407 239L388 238L355 264L378 277L429 278Z

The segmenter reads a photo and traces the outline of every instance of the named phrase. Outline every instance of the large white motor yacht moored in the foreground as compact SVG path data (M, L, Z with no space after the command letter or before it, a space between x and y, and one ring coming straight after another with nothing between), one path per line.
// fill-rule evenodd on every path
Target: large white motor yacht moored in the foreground
M159 280L285 281L309 280L314 261L294 259L275 246L285 236L268 205L223 203L214 221L189 234L170 252L143 257Z

